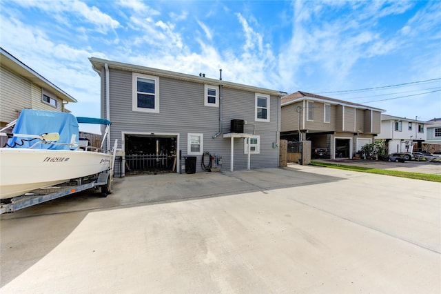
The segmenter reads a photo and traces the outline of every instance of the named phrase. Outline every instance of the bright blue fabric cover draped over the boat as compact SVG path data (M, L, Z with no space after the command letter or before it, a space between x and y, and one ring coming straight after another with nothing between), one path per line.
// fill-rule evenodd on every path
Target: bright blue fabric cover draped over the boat
M17 124L12 130L14 134L41 135L45 133L59 133L60 139L57 143L70 144L72 135L75 135L74 144L79 144L78 121L74 115L67 112L54 112L45 110L23 109L21 110ZM8 140L10 146L15 148L29 148L39 139L25 141L30 137L13 137ZM23 143L22 146L19 146ZM72 150L69 145L57 144L38 144L34 149L52 149L52 150Z

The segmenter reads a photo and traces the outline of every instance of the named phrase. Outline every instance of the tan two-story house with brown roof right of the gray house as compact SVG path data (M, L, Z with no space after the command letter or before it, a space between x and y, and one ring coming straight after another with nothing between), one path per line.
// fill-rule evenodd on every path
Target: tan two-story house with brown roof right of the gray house
M281 138L311 141L311 147L326 148L331 159L352 158L380 133L384 110L307 92L294 92L282 99Z

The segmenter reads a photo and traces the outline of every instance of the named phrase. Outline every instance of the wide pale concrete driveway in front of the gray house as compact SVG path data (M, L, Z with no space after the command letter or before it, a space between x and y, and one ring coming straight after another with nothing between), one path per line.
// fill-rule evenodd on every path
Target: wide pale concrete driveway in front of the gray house
M440 293L441 184L313 166L117 179L1 217L1 293Z

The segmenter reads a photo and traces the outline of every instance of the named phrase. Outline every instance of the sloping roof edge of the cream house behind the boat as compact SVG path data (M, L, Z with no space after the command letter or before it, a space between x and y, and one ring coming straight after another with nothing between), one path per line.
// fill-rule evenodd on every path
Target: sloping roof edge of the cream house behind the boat
M21 62L19 59L11 55L8 51L4 50L0 47L0 61L2 66L6 66L13 70L14 72L17 72L22 77L25 77L26 79L32 81L33 84L36 84L40 86L41 88L45 88L49 90L49 92L52 92L54 95L57 95L59 99L62 99L63 101L69 101L69 102L78 102L76 99L72 96L70 96L68 93L61 90L59 87L52 84L52 82L48 81L48 79L45 79L42 75L40 75L35 70L32 70L29 66L26 66L25 63Z

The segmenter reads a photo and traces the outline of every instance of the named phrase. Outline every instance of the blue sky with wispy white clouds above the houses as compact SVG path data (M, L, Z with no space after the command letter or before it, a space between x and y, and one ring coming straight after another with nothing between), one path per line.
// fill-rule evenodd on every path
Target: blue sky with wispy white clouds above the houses
M100 57L441 117L441 1L3 0L0 19L1 47L77 116L99 117Z

